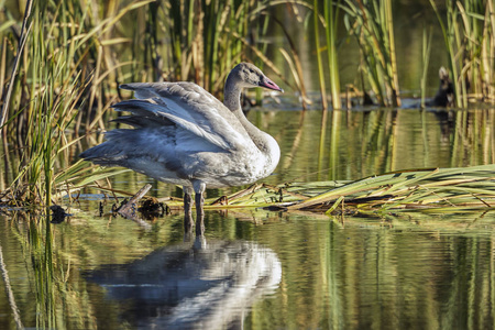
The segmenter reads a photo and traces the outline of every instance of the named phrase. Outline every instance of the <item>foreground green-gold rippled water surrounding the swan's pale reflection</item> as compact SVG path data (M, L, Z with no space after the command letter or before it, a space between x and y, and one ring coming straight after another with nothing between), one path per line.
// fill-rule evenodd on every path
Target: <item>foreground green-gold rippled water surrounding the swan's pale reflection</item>
M0 218L23 324L117 329L150 321L131 301L109 298L86 273L182 244L182 215L146 230L122 218L72 211L69 223L51 226L51 257L43 223ZM279 286L253 302L246 329L491 329L494 220L493 213L331 219L229 210L207 212L206 240L253 241L280 261ZM37 240L31 250L29 238ZM0 328L14 329L3 290L0 301Z

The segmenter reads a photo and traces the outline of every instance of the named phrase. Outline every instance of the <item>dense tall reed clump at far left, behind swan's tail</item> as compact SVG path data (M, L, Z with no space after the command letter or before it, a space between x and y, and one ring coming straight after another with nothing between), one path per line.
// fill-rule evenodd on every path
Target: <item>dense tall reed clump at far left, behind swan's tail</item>
M33 2L32 15L26 10L24 19L30 29L20 40L25 52L2 48L2 57L13 57L21 68L15 75L14 67L8 81L2 133L13 142L6 153L18 153L21 160L19 168L12 168L12 189L26 186L26 201L51 205L56 173L72 163L68 146L76 140L67 133L78 130L81 118L88 123L101 118L103 92L111 88L101 81L110 72L102 44L112 40L101 37L120 16L148 2L130 4L97 25L88 23L91 2ZM82 105L89 105L89 111L78 111Z

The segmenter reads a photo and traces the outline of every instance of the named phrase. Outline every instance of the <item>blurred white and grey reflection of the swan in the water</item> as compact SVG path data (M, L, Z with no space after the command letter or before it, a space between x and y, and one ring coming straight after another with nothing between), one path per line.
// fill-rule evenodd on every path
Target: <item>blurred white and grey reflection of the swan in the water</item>
M282 267L272 250L255 242L199 235L88 277L108 298L125 301L130 308L122 317L139 328L232 329L278 287Z

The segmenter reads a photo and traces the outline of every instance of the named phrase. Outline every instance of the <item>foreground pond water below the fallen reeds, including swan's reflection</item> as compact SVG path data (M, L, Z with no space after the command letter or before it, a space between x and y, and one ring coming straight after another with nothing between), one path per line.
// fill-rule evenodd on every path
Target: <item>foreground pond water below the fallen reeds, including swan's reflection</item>
M180 215L145 230L88 213L52 227L58 256L45 302L57 329L494 327L493 213L341 222L208 211L199 241L184 240ZM1 217L0 240L22 321L34 327L25 221ZM14 329L0 297L0 328Z

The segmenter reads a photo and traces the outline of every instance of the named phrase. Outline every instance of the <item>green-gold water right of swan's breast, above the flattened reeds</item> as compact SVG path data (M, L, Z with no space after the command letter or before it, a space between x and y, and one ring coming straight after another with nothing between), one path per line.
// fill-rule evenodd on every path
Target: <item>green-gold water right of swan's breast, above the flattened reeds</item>
M493 111L276 111L250 119L280 144L271 183L359 179L494 162Z

